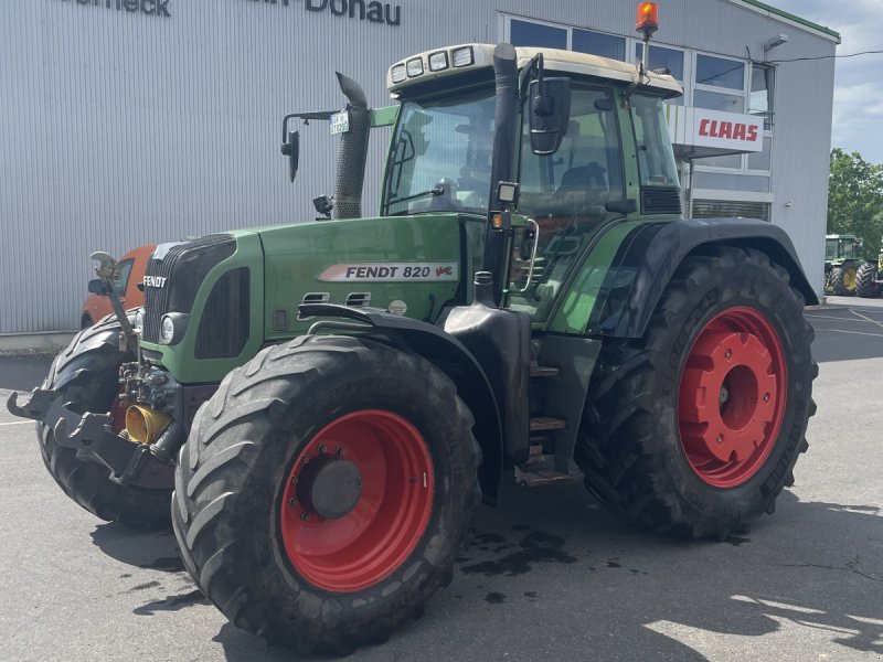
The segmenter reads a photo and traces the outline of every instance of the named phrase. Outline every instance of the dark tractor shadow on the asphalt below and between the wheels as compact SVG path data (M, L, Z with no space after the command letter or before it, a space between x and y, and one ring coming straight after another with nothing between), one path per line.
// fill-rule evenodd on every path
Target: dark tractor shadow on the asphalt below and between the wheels
M804 503L785 492L753 533L692 543L636 531L574 485L513 494L479 513L455 581L426 618L352 659L573 659L584 650L593 660L700 661L714 659L719 643L735 658L775 645L737 638L786 627L789 642L823 637L832 653L883 654L876 506ZM300 659L230 623L214 641L231 662Z

